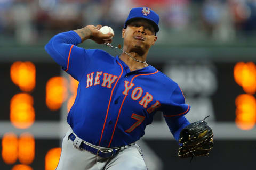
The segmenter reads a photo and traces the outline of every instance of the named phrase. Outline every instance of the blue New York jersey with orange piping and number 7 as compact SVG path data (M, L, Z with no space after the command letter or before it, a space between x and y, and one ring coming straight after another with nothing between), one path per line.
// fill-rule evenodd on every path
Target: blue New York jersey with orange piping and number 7
M118 56L77 47L79 43L77 33L69 31L54 36L45 46L62 69L79 81L67 118L79 138L102 147L119 147L139 140L156 111L167 119L184 119L190 106L178 84L165 74L151 65L130 71Z

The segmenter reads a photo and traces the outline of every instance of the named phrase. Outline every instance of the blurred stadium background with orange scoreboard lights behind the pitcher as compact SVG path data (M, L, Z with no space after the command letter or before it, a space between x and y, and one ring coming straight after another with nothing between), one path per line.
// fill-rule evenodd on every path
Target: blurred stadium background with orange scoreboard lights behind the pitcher
M140 142L148 169L254 168L256 152L255 0L0 0L0 169L53 170L77 82L44 45L56 33L109 25L112 45L132 7L153 8L160 31L148 63L183 89L190 122L207 115L214 148L207 157L177 158L162 114ZM79 45L117 54L88 40Z

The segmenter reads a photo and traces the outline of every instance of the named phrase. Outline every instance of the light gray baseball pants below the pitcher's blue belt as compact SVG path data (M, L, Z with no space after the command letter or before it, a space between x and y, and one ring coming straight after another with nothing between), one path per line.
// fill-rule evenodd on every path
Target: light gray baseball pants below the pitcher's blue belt
M142 151L137 144L122 147L121 150L111 158L101 158L89 151L77 149L73 141L68 139L73 133L70 128L62 141L61 156L56 170L147 170L142 157ZM111 149L92 145L99 149Z

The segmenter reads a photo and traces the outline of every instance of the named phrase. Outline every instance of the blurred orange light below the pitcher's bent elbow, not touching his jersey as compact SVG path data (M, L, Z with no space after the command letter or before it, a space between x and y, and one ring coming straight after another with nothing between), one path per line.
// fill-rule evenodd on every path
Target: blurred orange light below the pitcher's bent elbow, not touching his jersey
M46 105L55 111L67 99L67 80L62 77L52 77L46 83Z

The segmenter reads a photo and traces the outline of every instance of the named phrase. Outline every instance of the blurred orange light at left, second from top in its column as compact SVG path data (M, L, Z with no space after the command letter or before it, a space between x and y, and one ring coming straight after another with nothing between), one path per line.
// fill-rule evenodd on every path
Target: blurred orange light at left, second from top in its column
M29 128L35 122L34 99L26 93L16 94L11 99L10 121L19 129Z

